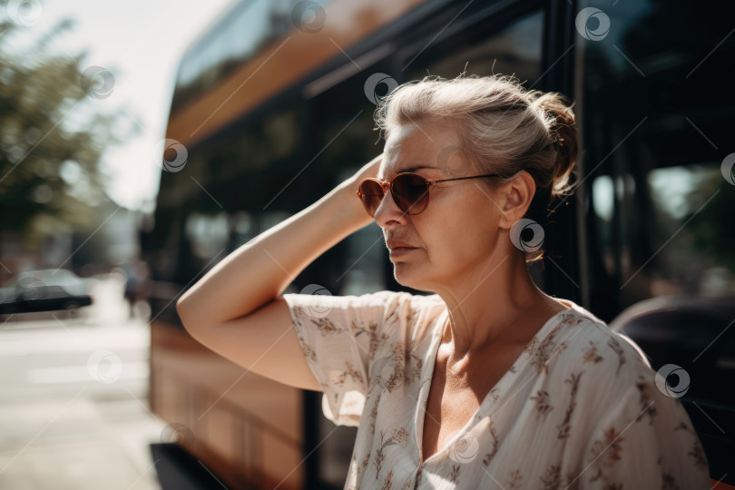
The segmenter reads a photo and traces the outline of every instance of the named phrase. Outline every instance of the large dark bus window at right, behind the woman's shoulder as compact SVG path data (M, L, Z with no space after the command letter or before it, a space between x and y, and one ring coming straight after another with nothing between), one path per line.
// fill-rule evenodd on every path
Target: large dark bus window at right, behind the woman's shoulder
M731 64L732 44L719 45L731 26L693 2L579 8L590 6L611 26L576 36L590 308L611 321L653 297L731 297L735 185L721 168L733 103L712 87Z

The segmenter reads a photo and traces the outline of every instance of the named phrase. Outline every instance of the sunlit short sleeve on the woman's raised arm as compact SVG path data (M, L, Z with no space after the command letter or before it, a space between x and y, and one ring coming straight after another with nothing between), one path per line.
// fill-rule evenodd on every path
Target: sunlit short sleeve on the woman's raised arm
M378 291L361 296L284 294L299 344L324 397L325 417L359 426L370 366L386 325L405 316L411 294Z

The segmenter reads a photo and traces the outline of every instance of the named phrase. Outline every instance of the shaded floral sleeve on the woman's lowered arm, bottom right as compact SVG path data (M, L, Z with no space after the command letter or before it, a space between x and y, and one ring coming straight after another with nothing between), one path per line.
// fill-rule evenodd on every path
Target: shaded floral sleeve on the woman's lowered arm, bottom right
M689 415L647 371L596 425L584 452L581 488L710 488L707 458Z

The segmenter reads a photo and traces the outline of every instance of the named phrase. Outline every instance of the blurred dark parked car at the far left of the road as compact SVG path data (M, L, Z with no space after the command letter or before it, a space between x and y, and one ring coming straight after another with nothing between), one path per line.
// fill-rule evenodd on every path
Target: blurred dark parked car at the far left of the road
M63 309L76 316L79 308L92 304L93 280L64 269L21 272L0 288L0 315Z

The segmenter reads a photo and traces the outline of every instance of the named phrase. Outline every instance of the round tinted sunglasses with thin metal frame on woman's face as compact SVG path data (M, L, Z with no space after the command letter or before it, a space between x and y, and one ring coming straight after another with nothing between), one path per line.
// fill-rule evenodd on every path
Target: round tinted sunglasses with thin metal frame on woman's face
M406 214L416 215L426 211L428 206L429 188L438 182L462 181L465 179L478 179L480 177L501 177L500 173L486 173L485 175L474 175L472 177L456 177L455 179L442 179L429 181L417 173L398 173L391 181L382 182L377 179L363 179L358 187L358 197L365 206L365 211L371 217L375 217L375 211L383 201L387 189L393 196L398 208Z

